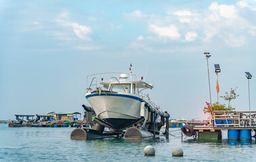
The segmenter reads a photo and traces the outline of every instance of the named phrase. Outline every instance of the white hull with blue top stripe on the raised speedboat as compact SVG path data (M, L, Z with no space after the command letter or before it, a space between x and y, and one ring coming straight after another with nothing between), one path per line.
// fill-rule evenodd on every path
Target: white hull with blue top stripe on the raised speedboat
M114 128L140 119L140 97L131 94L87 94L85 96L96 115Z

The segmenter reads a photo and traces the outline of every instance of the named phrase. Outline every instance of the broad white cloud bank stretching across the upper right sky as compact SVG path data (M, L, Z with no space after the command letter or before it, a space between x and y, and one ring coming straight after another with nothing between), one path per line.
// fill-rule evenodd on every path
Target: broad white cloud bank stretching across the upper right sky
M252 12L255 8L249 2L221 2L221 4L213 2L207 7L193 8L193 10L180 7L176 11L167 11L166 16L161 14L144 16L140 10L133 11L127 14L127 18L131 22L140 20L135 23L148 25L148 32L156 36L148 38L144 35L144 44L138 42L142 39L139 36L130 47L151 47L149 43L163 44L169 40L177 40L180 43L202 41L201 43L242 47L256 35L256 22L253 21L256 13ZM252 11L247 12L246 9ZM184 39L181 35L184 35ZM162 38L161 41L159 37Z

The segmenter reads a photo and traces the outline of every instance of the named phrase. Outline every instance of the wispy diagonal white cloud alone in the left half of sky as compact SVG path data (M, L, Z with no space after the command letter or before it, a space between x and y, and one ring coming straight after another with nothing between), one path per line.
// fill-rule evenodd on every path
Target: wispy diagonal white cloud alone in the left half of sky
M56 22L61 26L71 27L74 34L76 34L76 36L78 36L79 38L91 41L91 38L89 38L88 36L88 34L92 32L91 27L70 21L68 17L68 12L62 12L56 19Z

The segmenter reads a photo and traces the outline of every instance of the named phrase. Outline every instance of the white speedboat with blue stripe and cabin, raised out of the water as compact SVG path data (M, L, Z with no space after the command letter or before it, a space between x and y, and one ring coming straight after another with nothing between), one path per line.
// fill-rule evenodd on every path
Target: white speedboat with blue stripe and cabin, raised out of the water
M97 76L103 74L108 75L109 80L103 81L103 78L100 78L102 80L100 87L97 83L99 79ZM120 75L120 77L116 78L113 75ZM152 84L148 84L142 79L137 80L137 77L131 74L131 68L129 74L92 74L87 76L87 84L89 78L91 78L91 82L85 94L87 101L99 119L117 130L133 124L138 119L148 118L147 107L156 109L156 111L159 109L150 101L148 95L142 93L142 90L152 89ZM160 121L160 115L158 118Z

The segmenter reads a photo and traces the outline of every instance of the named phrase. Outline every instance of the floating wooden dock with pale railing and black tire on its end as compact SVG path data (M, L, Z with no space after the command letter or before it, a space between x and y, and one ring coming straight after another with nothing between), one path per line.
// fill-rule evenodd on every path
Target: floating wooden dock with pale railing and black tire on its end
M213 111L207 126L182 128L186 136L195 135L198 139L221 139L221 130L256 131L256 111Z

